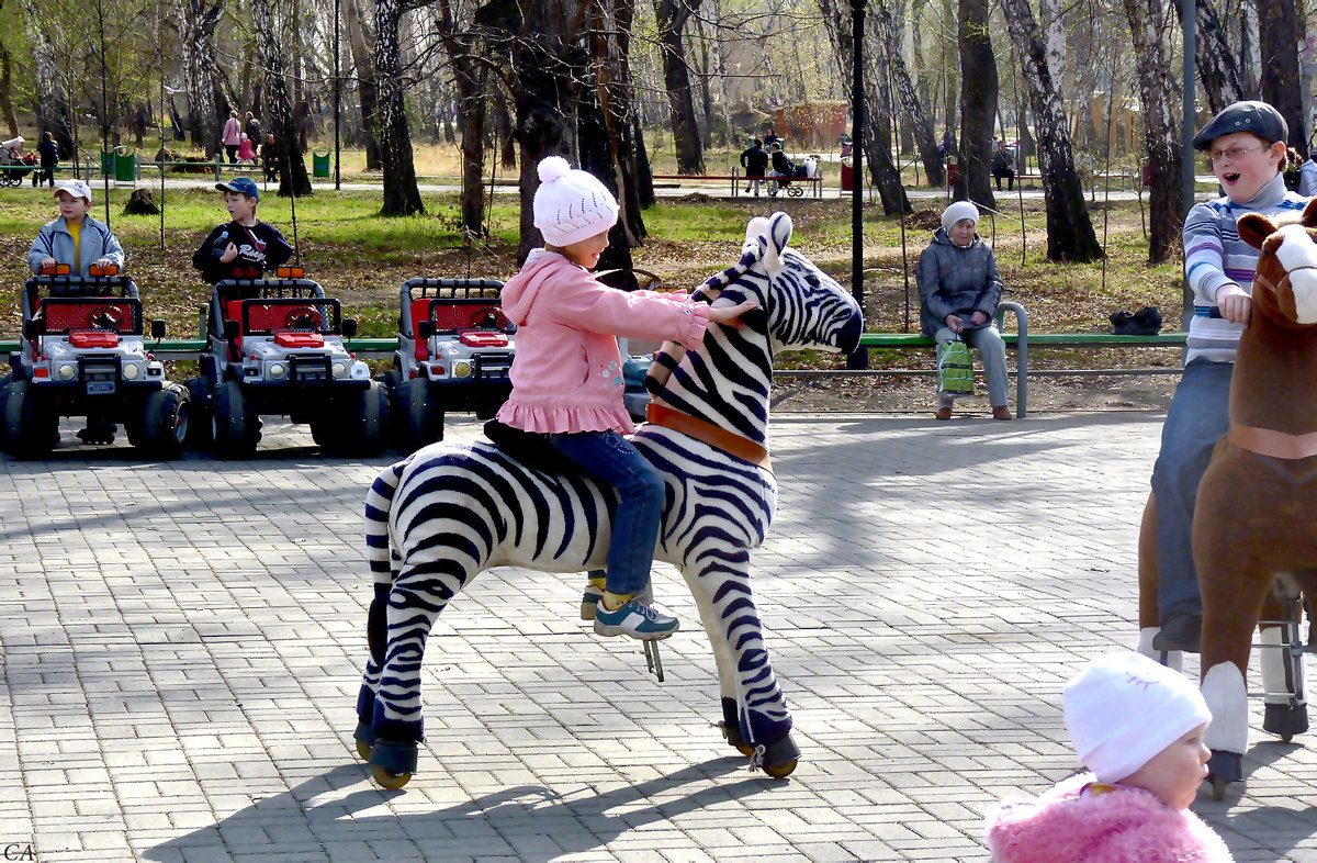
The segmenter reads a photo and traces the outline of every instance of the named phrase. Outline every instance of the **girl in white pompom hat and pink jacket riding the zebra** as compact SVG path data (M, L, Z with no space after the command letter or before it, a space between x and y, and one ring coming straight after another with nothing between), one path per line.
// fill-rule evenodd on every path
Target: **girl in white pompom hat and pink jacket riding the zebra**
M608 246L618 202L594 175L551 155L539 165L535 227L544 248L503 286L503 312L518 325L512 394L497 422L544 436L583 473L618 495L606 574L591 573L581 617L599 635L653 640L677 618L641 598L662 518L664 481L623 435L635 431L623 403L616 336L699 347L709 325L732 324L753 303L712 307L685 294L624 292L590 270ZM497 428L491 436L500 436Z

